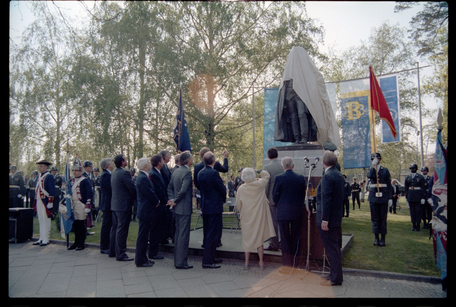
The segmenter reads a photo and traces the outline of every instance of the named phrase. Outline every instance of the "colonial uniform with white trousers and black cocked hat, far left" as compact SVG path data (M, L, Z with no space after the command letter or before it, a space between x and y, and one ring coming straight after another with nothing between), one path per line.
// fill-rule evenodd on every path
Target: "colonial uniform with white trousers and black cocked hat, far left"
M51 165L52 163L41 160L36 162L36 164ZM38 222L40 223L40 239L33 243L34 245L46 246L49 244L54 196L54 177L46 170L38 176L38 179L36 179L33 209L35 209L36 215L38 216Z

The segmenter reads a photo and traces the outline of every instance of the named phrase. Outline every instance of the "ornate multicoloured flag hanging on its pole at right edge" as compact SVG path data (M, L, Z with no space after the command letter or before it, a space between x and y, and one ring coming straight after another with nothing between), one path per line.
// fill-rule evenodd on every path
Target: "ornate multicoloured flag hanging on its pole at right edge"
M442 145L442 132L437 133L435 142L435 173L432 186L432 238L434 243L435 264L440 269L442 288L446 290L446 238L447 238L447 195L446 182L448 151Z

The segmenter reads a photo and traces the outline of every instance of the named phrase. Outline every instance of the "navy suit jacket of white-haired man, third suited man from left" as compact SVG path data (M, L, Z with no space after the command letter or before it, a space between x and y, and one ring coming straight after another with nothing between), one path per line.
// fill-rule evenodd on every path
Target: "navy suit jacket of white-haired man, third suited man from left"
M136 178L136 195L138 200L138 219L153 219L156 214L155 206L159 201L155 195L154 185L149 175L139 172Z

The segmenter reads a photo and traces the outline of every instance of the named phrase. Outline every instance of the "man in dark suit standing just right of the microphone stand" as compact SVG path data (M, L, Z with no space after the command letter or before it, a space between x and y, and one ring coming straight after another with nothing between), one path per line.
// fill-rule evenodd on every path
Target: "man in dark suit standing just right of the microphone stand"
M331 151L323 153L323 167L325 174L321 177L316 191L316 225L326 255L331 263L331 273L323 286L342 285L342 257L340 246L342 243L342 205L344 198L344 184L342 174L336 169L337 157Z

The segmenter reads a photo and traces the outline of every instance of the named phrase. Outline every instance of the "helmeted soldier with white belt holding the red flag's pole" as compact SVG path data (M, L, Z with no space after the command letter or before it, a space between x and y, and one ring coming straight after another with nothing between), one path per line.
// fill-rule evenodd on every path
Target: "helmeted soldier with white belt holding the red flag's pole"
M391 175L386 167L380 165L382 160L380 153L372 153L371 160L372 166L368 170L366 177L370 179L368 201L371 212L372 232L375 235L373 245L386 246L388 206L393 205ZM382 235L381 239L378 238L378 234Z

